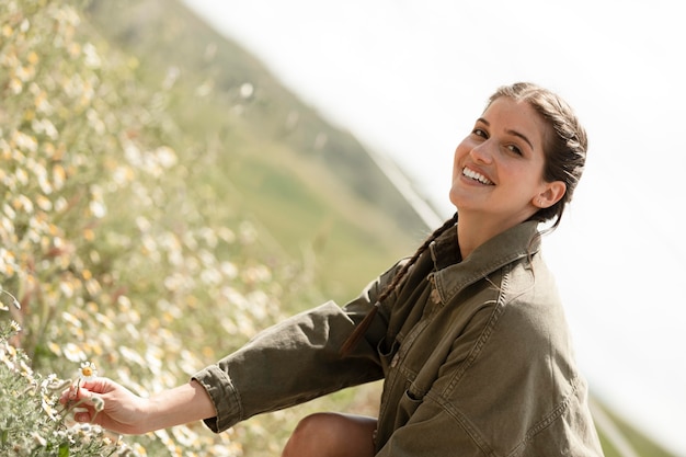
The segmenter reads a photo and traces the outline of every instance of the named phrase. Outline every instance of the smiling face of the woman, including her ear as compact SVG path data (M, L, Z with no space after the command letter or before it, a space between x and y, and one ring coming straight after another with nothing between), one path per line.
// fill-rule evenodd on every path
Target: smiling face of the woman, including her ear
M562 197L564 183L542 179L548 128L527 102L491 103L455 150L450 202L460 222L477 217L502 231Z

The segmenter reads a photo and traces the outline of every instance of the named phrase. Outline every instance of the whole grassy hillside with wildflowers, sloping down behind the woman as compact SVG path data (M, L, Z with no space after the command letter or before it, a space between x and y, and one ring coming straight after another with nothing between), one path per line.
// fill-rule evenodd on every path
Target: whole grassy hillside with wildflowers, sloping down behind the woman
M284 315L350 298L424 237L354 137L178 3L87 4L0 8L1 286L21 304L0 308L33 358L21 379L89 359L135 390L175 385ZM193 424L132 441L276 455L307 408L374 413L369 389L218 436ZM607 414L641 454L667 456Z

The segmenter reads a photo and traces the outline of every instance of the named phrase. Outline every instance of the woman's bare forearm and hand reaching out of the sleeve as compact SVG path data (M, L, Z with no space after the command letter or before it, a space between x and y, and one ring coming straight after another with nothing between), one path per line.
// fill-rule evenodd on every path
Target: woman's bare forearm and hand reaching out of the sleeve
M209 396L194 380L142 398L111 379L96 378L68 389L60 402L85 409L75 414L76 421L124 434L142 434L216 415Z

